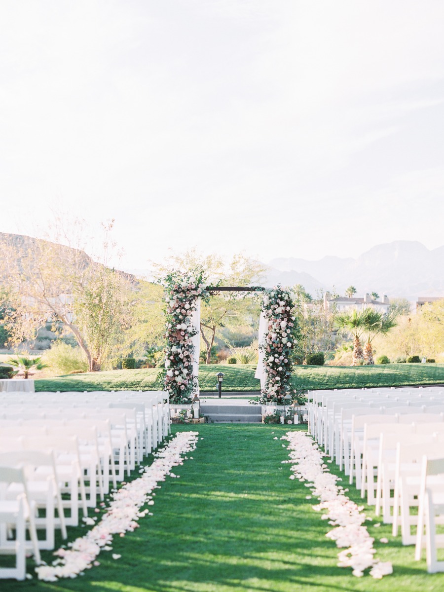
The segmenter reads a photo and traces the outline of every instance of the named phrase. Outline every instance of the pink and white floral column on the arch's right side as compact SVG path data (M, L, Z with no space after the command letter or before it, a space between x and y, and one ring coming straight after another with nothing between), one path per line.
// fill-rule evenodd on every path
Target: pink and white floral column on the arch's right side
M287 392L292 395L290 380L299 337L291 292L275 286L263 297L262 311L268 321L268 331L265 343L260 346L265 353L266 372L261 403L282 405Z

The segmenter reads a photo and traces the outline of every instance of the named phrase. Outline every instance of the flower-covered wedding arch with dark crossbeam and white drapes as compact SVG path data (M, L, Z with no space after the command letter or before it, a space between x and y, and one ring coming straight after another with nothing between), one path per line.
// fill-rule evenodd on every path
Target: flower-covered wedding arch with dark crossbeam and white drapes
M171 272L163 278L166 301L164 385L171 403L185 403L199 394L200 310L214 292L262 292L259 319L260 380L264 402L282 403L290 390L298 327L292 294L274 288L206 285L203 272Z

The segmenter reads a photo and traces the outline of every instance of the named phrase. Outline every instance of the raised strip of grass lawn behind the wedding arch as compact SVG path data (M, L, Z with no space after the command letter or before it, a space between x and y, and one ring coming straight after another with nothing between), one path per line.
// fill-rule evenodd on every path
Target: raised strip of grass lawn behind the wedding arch
M224 373L223 391L258 391L255 365L202 365L202 391L216 390L216 374ZM156 390L159 370L112 370L36 380L36 391ZM444 364L385 364L381 366L296 366L294 388L396 387L444 383Z

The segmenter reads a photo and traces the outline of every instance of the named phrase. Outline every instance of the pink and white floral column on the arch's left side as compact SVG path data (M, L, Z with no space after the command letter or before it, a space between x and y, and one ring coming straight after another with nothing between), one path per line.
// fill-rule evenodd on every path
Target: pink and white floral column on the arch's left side
M163 278L166 302L166 357L164 382L170 403L188 403L194 382L193 362L200 352L194 351L192 338L197 334L191 317L198 298L207 301L207 291L202 271L173 271Z

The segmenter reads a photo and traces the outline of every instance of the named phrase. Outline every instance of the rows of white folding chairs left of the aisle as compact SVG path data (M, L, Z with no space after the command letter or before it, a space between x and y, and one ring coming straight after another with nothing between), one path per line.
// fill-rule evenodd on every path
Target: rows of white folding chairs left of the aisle
M0 578L24 578L25 552L39 562L169 432L163 392L0 393L0 552L16 555Z

